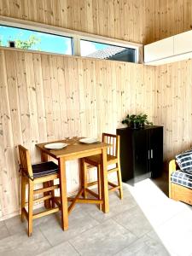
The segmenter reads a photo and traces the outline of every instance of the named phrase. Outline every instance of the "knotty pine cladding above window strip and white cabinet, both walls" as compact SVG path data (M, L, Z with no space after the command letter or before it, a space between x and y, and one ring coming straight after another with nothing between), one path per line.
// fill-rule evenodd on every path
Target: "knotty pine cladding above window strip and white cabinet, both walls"
M148 44L192 26L191 0L0 0L0 15Z

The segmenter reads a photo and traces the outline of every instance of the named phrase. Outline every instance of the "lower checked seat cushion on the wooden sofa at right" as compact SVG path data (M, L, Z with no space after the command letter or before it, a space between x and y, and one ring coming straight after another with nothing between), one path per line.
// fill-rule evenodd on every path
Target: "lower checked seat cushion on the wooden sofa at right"
M184 187L187 187L189 189L192 189L192 173L191 172L181 172L181 171L172 172L171 181L172 183L176 183Z

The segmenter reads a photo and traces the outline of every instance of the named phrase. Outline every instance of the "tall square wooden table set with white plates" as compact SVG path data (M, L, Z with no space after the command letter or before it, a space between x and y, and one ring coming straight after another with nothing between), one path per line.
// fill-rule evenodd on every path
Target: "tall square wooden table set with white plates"
M68 212L70 212L74 206L74 203L79 201L79 195L82 191L83 182L81 182L81 188L78 195L75 197L75 201L72 201L71 206L67 207L67 179L66 179L66 161L81 159L88 157L90 155L101 154L102 157L102 173L101 173L101 183L102 183L102 212L109 212L108 205L108 170L107 170L107 148L108 144L106 143L92 143L84 144L79 143L79 140L61 140L54 143L67 143L66 148L52 150L44 148L44 145L47 143L39 143L36 146L41 151L42 161L47 161L48 156L51 156L58 160L59 165L59 174L61 178L60 184L60 197L61 197L61 227L63 230L68 230ZM93 203L94 200L89 201L84 199L82 202ZM98 203L98 200L97 200Z

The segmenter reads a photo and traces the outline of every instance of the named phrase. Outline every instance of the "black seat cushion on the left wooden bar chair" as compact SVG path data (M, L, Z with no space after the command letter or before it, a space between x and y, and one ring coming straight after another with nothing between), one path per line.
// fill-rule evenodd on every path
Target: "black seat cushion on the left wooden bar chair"
M33 177L43 177L58 172L58 166L52 162L44 162L37 165L32 165Z

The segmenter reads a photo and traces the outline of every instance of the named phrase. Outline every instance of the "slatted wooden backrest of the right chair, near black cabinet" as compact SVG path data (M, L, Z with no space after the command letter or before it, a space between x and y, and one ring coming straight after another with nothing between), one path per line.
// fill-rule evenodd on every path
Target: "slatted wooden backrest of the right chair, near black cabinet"
M102 142L112 145L108 148L108 154L119 157L119 135L102 133Z

